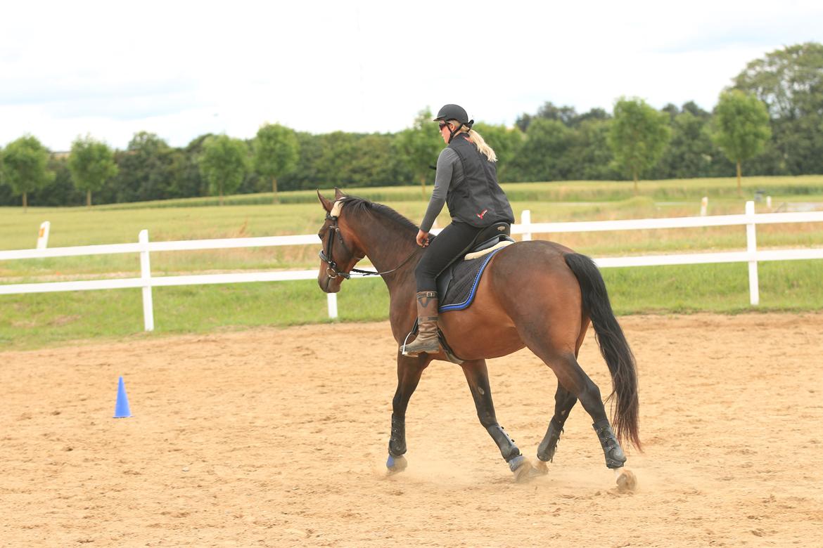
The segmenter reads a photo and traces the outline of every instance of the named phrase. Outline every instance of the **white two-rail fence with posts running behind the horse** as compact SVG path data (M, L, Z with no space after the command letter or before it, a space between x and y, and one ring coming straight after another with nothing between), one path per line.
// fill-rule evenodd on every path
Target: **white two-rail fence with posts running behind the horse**
M652 265L700 265L706 263L749 264L749 296L752 305L760 302L757 263L765 260L823 259L823 248L757 250L756 225L774 223L821 223L823 211L806 213L756 214L755 203L746 202L746 213L715 215L708 217L677 217L672 219L630 219L621 221L588 221L575 223L532 223L531 214L524 210L521 223L512 225L512 234L521 234L523 240L531 240L534 233L580 233L607 230L638 230L653 228L700 228L719 226L746 226L746 251L714 253L688 253L680 255L647 255L596 258L601 268L616 266ZM432 231L437 232L437 231ZM278 282L285 280L316 279L317 269L286 270L279 272L249 272L235 274L193 274L187 276L151 276L150 254L152 251L193 251L236 247L266 246L319 246L316 235L275 236L249 238L222 238L179 242L149 242L148 231L142 230L137 243L102 246L53 247L0 251L0 260L37 259L44 257L111 255L116 253L140 254L140 277L122 279L96 279L73 282L12 283L0 285L0 295L13 293L37 293L58 291L86 291L91 289L142 288L143 323L146 331L154 329L154 312L151 288L174 285L200 285L206 283ZM358 277L352 275L352 279ZM328 294L328 315L337 317L337 296Z

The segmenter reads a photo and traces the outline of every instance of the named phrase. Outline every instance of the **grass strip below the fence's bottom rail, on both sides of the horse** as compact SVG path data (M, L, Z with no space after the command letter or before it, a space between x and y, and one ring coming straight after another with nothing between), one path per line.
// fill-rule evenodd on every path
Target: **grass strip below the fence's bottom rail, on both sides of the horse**
M757 307L749 305L744 264L610 268L602 274L617 315L823 310L820 261L761 263ZM151 336L331 321L326 295L314 281L154 288L152 296ZM339 321L385 320L388 290L379 279L347 281L337 306ZM0 345L6 349L146 336L139 289L2 295L0 310Z

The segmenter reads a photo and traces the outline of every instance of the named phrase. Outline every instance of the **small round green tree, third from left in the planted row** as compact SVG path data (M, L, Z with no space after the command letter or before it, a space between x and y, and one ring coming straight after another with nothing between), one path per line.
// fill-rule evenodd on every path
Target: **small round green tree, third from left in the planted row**
M226 135L210 136L203 142L200 170L206 178L209 190L220 196L223 205L224 192L237 190L249 171L249 150L239 139Z

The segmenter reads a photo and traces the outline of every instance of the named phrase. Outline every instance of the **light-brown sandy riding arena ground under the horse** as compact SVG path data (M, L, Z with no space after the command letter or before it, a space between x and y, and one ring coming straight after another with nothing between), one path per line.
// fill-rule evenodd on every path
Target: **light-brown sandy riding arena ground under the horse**
M444 362L386 477L386 323L0 352L0 545L823 546L823 314L621 323L645 442L625 495L579 406L550 473L514 483ZM606 394L591 333L580 362ZM534 458L554 376L528 351L490 371Z

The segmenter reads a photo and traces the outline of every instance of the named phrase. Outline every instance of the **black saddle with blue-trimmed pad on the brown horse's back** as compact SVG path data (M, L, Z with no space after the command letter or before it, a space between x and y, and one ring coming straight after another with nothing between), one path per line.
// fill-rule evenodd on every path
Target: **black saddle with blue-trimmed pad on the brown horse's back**
M474 290L491 256L514 243L509 223L494 223L477 234L469 244L437 277L439 311L467 308L474 298ZM485 260L482 260L485 257Z

